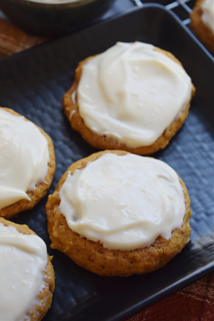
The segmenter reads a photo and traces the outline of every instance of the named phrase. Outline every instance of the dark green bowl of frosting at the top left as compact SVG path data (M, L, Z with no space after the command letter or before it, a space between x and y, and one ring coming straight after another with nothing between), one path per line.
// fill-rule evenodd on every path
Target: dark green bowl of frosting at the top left
M59 35L87 24L114 0L0 0L0 9L13 23L37 35Z

